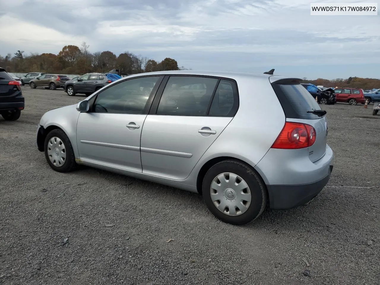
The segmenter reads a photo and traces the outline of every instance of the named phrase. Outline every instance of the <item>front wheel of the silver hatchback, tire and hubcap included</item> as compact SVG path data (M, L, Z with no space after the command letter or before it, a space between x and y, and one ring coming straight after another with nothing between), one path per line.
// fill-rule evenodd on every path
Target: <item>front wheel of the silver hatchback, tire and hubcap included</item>
M76 167L74 150L64 131L50 131L45 138L44 146L47 163L55 171L69 172Z

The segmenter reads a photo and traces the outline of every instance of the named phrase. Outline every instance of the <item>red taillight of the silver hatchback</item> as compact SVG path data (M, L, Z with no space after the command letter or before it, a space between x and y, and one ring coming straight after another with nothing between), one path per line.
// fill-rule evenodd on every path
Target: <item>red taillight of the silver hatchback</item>
M316 138L315 129L307 124L286 122L272 149L302 149L312 146Z

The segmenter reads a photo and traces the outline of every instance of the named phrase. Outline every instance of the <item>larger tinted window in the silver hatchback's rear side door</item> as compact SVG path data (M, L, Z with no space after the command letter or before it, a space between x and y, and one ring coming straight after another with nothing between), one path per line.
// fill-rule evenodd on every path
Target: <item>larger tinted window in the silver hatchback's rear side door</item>
M206 116L216 78L171 76L162 93L157 115Z

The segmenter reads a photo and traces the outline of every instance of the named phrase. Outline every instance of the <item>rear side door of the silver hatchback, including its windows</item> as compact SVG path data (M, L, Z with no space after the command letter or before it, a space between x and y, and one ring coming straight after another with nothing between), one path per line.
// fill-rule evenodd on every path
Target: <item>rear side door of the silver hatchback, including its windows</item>
M203 76L170 76L163 83L166 80L142 128L142 172L183 180L231 122L238 100L224 98L236 98L237 87L231 80ZM203 93L195 84L203 86Z

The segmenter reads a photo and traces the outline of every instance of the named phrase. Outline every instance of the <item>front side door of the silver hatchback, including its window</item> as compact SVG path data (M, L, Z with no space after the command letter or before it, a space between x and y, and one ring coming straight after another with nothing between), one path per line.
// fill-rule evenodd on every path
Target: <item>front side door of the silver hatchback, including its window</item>
M131 78L91 98L90 111L81 112L77 123L80 159L141 173L141 130L162 78ZM148 96L135 92L136 87L147 80L156 88Z

